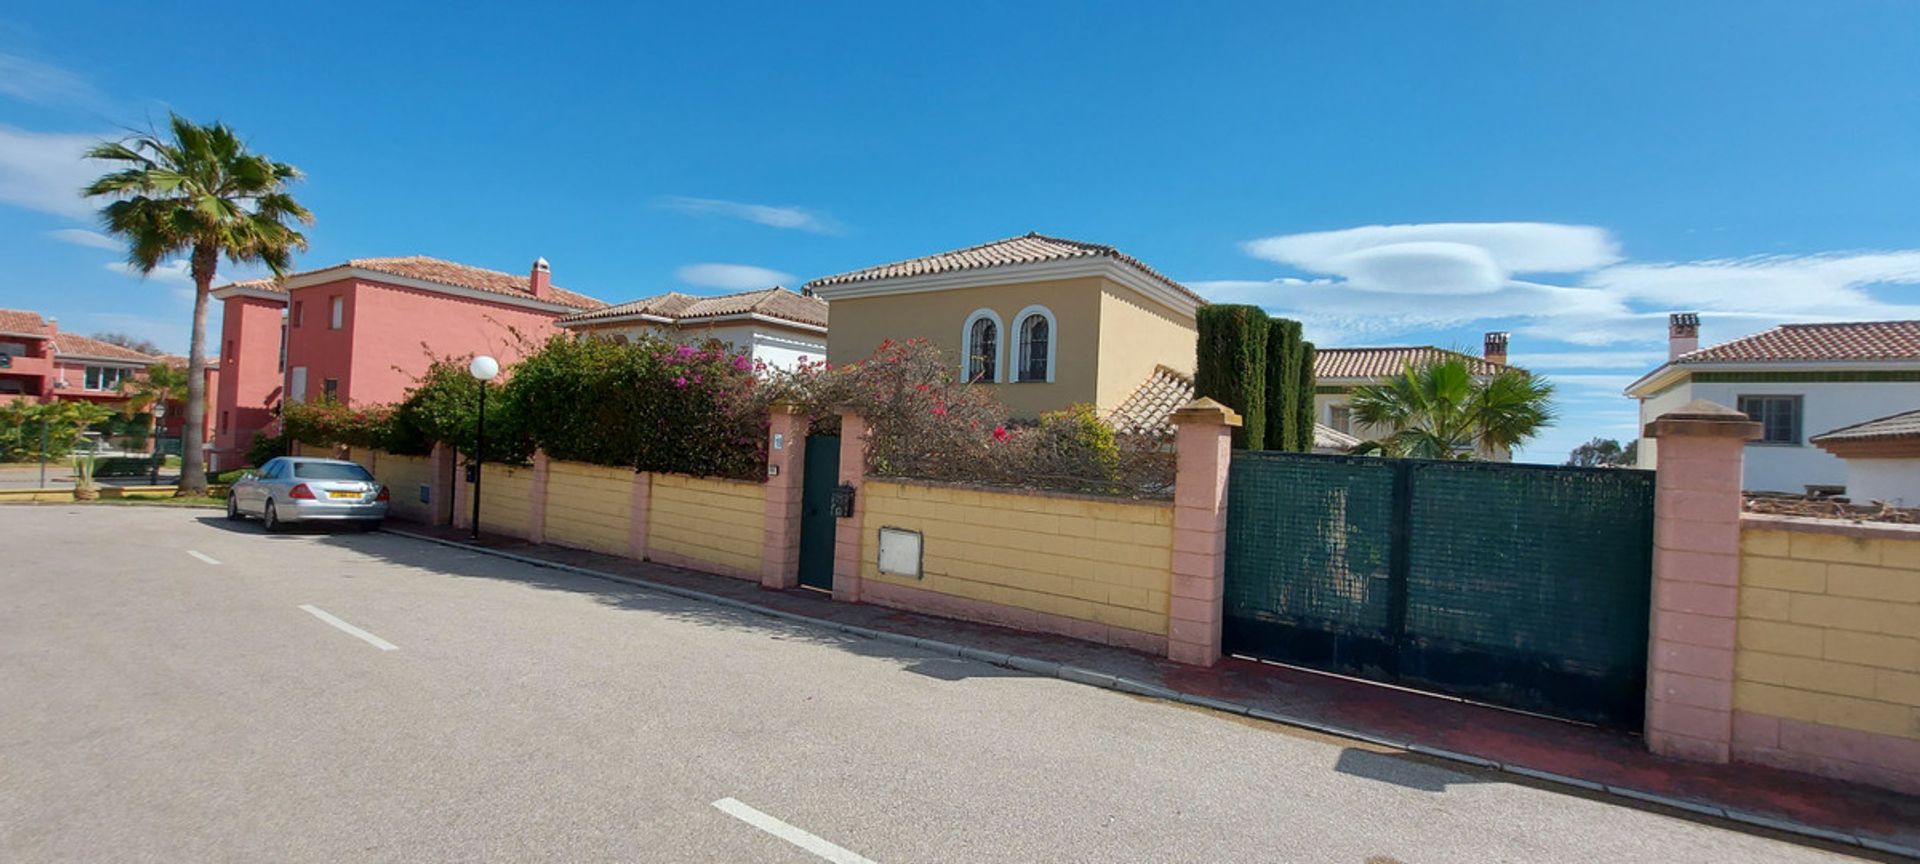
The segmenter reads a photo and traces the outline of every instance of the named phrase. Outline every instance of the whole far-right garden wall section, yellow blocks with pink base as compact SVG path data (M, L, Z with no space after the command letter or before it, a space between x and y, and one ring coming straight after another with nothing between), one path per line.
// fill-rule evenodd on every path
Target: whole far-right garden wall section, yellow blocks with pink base
M1920 793L1920 526L1741 518L1732 753Z

